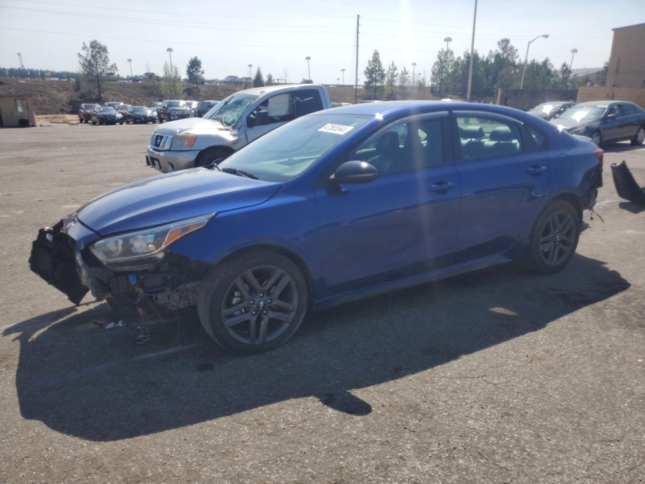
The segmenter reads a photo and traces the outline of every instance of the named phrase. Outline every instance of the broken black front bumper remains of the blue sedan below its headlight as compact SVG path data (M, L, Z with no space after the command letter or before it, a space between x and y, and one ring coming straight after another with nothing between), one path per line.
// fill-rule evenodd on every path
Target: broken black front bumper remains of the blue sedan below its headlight
M92 292L96 299L128 297L135 305L179 309L197 302L199 282L206 267L168 252L153 268L118 272L105 267L89 245L99 239L82 223L63 219L41 228L32 243L30 268L78 305Z

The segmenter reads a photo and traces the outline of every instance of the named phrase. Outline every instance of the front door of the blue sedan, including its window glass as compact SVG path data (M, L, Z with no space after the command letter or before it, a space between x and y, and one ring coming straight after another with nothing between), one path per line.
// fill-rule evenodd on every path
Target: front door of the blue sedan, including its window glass
M372 183L315 188L327 294L428 272L456 250L459 174L446 163L448 113L385 126L344 161L374 165Z

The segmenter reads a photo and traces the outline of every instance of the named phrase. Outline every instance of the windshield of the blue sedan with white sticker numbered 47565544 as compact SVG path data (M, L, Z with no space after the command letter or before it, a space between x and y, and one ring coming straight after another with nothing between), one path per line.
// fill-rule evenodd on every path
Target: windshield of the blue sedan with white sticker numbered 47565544
M219 164L264 181L293 179L373 116L315 114L283 125L244 146Z

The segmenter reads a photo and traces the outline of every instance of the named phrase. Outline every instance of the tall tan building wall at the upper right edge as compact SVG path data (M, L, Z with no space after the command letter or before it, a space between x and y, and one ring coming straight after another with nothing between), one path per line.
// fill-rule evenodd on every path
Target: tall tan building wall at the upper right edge
M606 86L645 89L645 24L614 29Z

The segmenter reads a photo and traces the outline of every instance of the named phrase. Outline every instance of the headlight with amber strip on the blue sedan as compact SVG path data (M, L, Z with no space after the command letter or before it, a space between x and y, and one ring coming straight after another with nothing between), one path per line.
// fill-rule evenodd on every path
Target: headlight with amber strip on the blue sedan
M128 232L96 241L91 247L99 261L115 270L154 267L163 251L181 237L206 226L215 214L208 214L158 227Z

